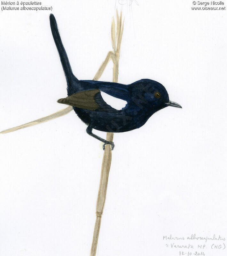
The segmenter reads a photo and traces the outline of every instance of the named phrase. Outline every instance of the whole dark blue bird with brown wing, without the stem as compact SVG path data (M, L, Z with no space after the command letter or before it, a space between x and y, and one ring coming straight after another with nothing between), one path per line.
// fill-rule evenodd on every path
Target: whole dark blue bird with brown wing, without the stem
M57 46L62 67L67 80L68 97L59 99L59 103L73 106L79 118L88 125L87 133L106 144L106 141L92 133L92 129L105 132L126 132L141 127L156 111L167 106L181 106L169 100L163 85L141 79L129 85L93 80L78 80L71 69L65 48L61 42L54 15L50 15L51 31ZM101 92L127 102L117 110L108 105Z

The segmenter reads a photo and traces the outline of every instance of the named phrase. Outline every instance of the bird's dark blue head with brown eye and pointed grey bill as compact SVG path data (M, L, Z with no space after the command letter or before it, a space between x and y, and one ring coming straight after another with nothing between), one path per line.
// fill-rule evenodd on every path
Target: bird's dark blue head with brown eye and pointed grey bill
M167 106L181 108L178 103L169 100L166 88L159 82L142 79L130 86L133 102L139 108L151 109L153 113Z

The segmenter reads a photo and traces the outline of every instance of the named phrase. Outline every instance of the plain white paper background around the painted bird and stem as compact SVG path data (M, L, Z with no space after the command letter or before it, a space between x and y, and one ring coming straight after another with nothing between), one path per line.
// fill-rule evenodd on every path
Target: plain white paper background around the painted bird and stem
M114 135L97 255L177 256L163 235L227 238L227 13L192 11L192 1L137 2L122 6L119 82L157 80L183 109ZM92 79L112 49L115 1L42 3L53 7L74 74ZM56 102L66 79L49 14L1 12L0 130L65 107ZM111 63L101 80L112 80ZM85 130L72 111L0 136L0 255L89 255L103 150ZM204 244L170 242L193 244L183 250L193 253ZM206 244L205 255L226 255Z

